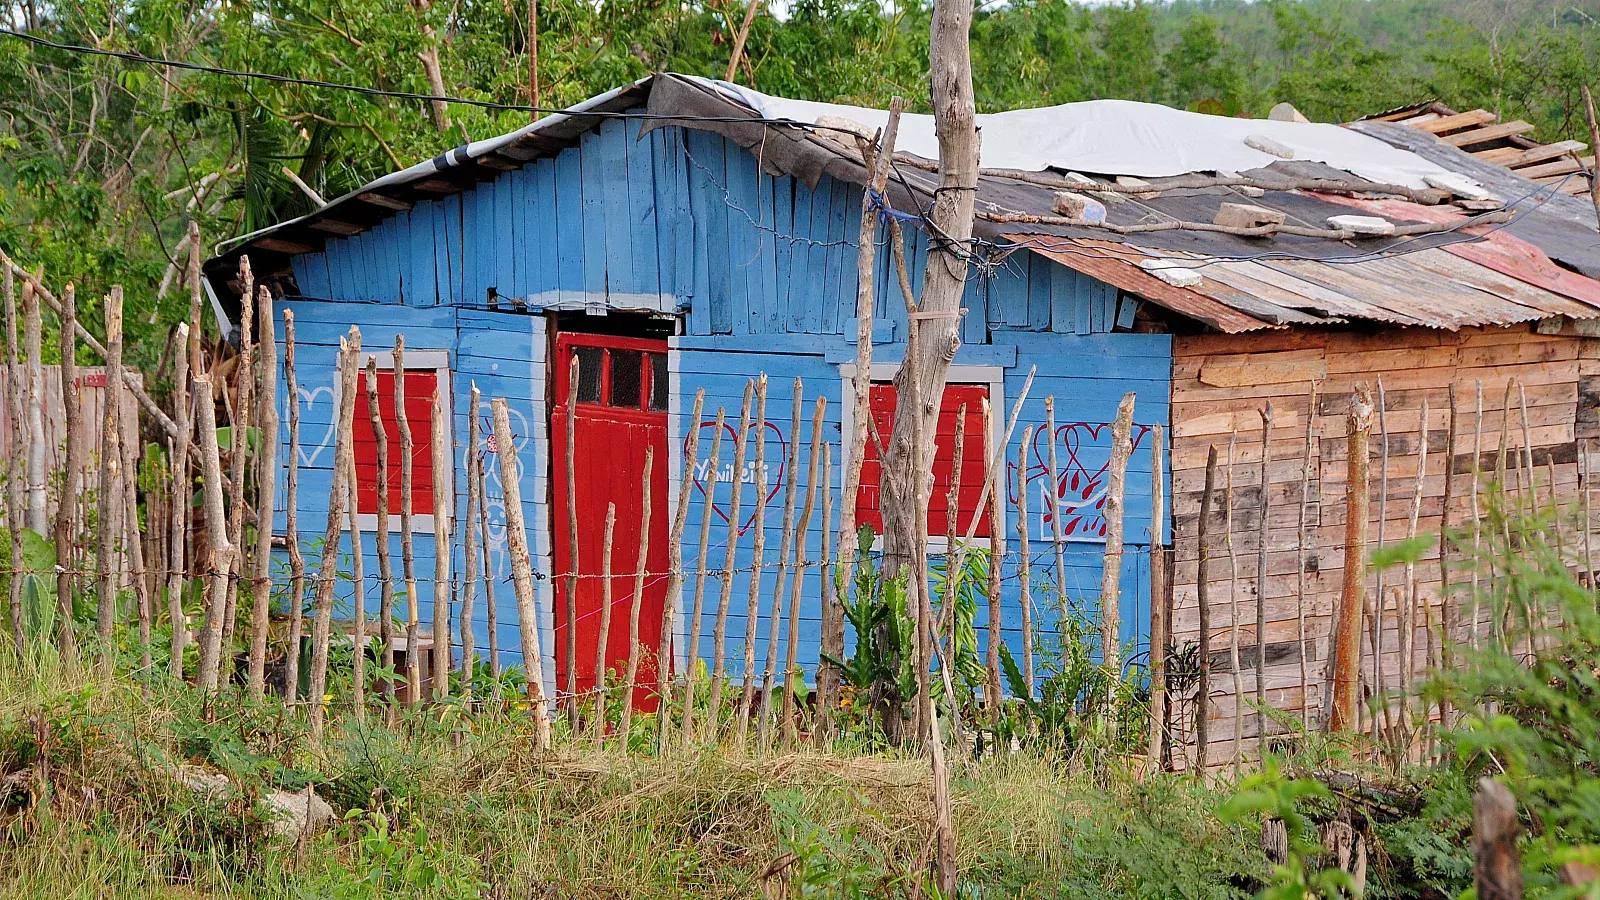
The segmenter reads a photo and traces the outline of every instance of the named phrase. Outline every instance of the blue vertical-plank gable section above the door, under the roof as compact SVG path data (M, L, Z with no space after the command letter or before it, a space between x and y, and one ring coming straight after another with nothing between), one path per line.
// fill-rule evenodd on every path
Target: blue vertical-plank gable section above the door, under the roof
M856 331L859 216L853 184L822 178L813 191L718 135L637 138L608 120L555 157L331 237L293 267L318 299L485 307L493 288L536 311L686 309L685 333L698 336L838 336ZM907 232L922 290L928 240ZM875 275L880 335L904 340L882 229ZM963 303L968 344L990 331L1107 333L1133 317L1115 290L1032 253L974 275Z

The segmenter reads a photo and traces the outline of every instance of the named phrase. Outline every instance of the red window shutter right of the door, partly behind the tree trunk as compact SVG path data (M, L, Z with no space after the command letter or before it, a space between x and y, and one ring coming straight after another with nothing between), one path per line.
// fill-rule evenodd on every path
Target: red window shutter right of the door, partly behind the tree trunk
M928 533L944 535L949 520L950 463L955 460L955 413L966 404L966 436L962 442L962 488L957 495L958 512L955 527L960 535L978 512L978 495L984 490L984 410L989 396L987 384L946 384L944 402L939 405L939 432L934 436L933 496L928 500ZM872 421L886 442L894 428L894 386L874 384L870 394ZM861 492L856 495L856 520L883 532L882 512L882 464L878 448L867 439L867 455L861 464ZM974 536L989 536L989 516L978 522Z

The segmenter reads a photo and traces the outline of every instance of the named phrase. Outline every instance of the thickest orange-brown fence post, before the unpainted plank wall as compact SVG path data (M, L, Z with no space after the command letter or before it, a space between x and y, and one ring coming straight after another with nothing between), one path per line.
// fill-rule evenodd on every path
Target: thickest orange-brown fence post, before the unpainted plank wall
M1368 442L1373 432L1373 399L1365 386L1350 397L1349 476L1344 488L1344 586L1339 591L1338 633L1333 636L1333 705L1328 729L1355 725L1360 681L1362 613L1366 572L1366 519L1371 506Z

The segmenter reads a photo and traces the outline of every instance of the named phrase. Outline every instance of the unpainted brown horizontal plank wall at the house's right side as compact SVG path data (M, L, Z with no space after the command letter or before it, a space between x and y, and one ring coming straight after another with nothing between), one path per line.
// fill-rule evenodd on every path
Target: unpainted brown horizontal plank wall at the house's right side
M1422 440L1419 412L1427 397L1429 447L1422 480L1419 533L1440 528L1445 495L1445 450L1450 439L1448 391L1456 389L1458 456L1451 522L1470 517L1472 440L1475 428L1477 384L1483 386L1483 450L1482 469L1493 474L1504 416L1507 383L1520 383L1528 394L1528 416L1534 445L1536 482L1541 496L1547 490L1546 460L1555 460L1558 493L1573 500L1578 485L1576 423L1579 421L1579 383L1600 375L1597 356L1600 341L1565 335L1538 335L1530 325L1509 328L1387 330L1381 333L1318 333L1309 330L1259 335L1200 335L1173 341L1173 517L1176 573L1174 639L1179 645L1198 639L1198 509L1205 484L1206 452L1219 448L1226 460L1229 434L1238 429L1235 450L1234 546L1238 557L1237 591L1240 612L1240 645L1245 669L1245 692L1256 690L1256 527L1261 501L1261 415L1270 399L1274 405L1274 442L1267 463L1269 490L1269 577L1267 596L1267 698L1277 709L1309 708L1315 719L1322 709L1323 673L1328 657L1330 613L1339 593L1344 552L1344 495L1347 484L1347 420L1350 396L1357 384L1374 391L1384 383L1389 428L1389 493L1381 490L1378 418L1373 426L1373 520L1368 536L1378 546L1378 517L1384 517L1389 543L1406 535L1416 490L1418 445ZM1310 384L1317 383L1317 408L1309 408ZM1590 399L1589 407L1594 405ZM1522 420L1514 391L1510 447L1522 447ZM1589 413L1589 420L1594 420ZM1301 501L1301 461L1306 429L1312 432L1312 487L1309 498L1310 546L1306 548L1306 618L1310 644L1310 685L1302 689L1296 647L1298 609L1298 520ZM1595 431L1600 436L1600 429ZM1486 479L1485 479L1486 480ZM1510 480L1510 479L1509 479ZM1512 480L1512 487L1517 482ZM1219 485L1221 488L1221 476ZM1224 552L1221 503L1213 520L1211 556L1211 649L1213 649L1213 722L1210 759L1230 761L1235 697L1229 665L1232 629L1229 589L1234 578ZM1403 581L1402 570L1386 573L1382 665L1390 685L1397 684L1400 660L1394 601L1389 591ZM1429 549L1418 565L1419 597L1440 617L1438 548ZM1376 577L1368 580L1368 593ZM1414 666L1424 663L1426 637L1421 633ZM1363 655L1366 642L1363 641ZM1366 673L1371 677L1370 655ZM1269 729L1275 725L1269 721ZM1254 716L1246 706L1245 737L1256 733ZM1245 746L1253 753L1254 740ZM1192 749L1190 749L1192 751Z

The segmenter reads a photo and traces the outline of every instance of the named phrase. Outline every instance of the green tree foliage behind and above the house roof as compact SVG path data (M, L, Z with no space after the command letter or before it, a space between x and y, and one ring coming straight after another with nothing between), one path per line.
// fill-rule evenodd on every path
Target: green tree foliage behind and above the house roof
M819 101L926 109L928 0L758 6L739 80ZM528 0L261 0L248 6L5 0L8 26L104 50L238 70L526 104ZM539 102L558 107L656 70L722 77L742 5L539 3ZM1096 98L1262 115L1291 101L1346 120L1430 96L1584 138L1578 86L1595 78L1600 2L1174 0L981 5L973 70L984 110ZM430 104L30 46L0 54L0 247L53 283L78 283L80 319L128 285L128 364L155 364L187 312L166 285L189 218L211 242L322 197L525 125L515 109ZM206 317L210 319L210 317ZM210 327L210 325L208 325ZM56 351L46 340L46 357ZM80 352L88 354L88 349ZM53 359L46 359L53 362ZM82 362L90 362L88 356Z

